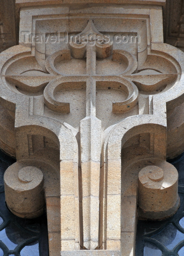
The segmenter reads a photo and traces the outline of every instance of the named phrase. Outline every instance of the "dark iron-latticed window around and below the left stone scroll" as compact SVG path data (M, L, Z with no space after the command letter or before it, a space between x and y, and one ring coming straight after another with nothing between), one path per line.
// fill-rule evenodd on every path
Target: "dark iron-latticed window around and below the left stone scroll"
M0 256L48 256L46 214L36 219L13 215L5 204L3 175L15 160L0 151Z

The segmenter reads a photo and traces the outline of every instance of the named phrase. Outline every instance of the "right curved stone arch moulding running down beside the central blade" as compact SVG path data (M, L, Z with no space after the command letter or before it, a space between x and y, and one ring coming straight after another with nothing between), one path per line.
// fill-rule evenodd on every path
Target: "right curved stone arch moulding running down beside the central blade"
M123 248L125 248L124 244L131 240L129 237L131 232L125 233L124 241L121 241L121 149L133 135L149 131L156 135L154 136L154 157L165 159L166 125L161 119L159 121L159 116L156 115L126 118L110 131L104 143L103 228L106 233L103 231L103 241L106 243L106 249L121 250L122 255L128 253L125 253ZM132 245L131 242L130 244Z

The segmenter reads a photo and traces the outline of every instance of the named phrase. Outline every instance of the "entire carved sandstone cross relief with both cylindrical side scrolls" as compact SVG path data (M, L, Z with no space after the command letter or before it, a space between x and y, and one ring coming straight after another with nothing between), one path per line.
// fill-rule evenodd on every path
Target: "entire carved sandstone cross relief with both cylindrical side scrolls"
M19 45L0 55L0 147L17 159L6 202L29 218L46 205L50 256L134 255L136 216L179 207L177 170L165 160L184 54L163 44L161 7L133 6L23 8Z

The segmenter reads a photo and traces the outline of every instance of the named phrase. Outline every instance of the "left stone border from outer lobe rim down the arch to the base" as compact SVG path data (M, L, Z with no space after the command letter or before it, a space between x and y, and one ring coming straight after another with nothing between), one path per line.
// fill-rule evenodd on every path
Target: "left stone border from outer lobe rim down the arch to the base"
M58 120L44 116L33 116L30 112L32 97L12 90L8 86L4 76L7 68L13 62L25 57L34 56L31 54L30 48L22 45L13 46L0 54L0 103L16 116L15 138L18 161L24 162L26 165L29 162L33 166L38 162L38 159L33 161L29 158L28 135L30 140L31 136L38 136L39 134L48 136L55 140L55 144L58 144L60 180L63 182L61 182L59 188L60 195L58 199L55 197L54 200L59 200L59 204L62 205L58 208L58 216L61 216L63 221L60 221L57 225L52 220L49 222L50 226L58 226L58 230L61 230L59 237L59 233L52 233L53 229L49 230L50 241L52 241L49 242L49 247L52 254L57 251L54 248L57 244L57 255L60 255L61 247L62 251L68 250L68 248L70 250L79 249L78 144L70 129ZM50 79L52 80L53 76Z

